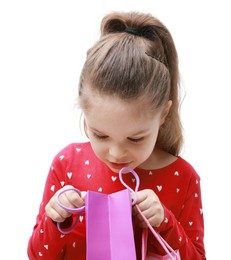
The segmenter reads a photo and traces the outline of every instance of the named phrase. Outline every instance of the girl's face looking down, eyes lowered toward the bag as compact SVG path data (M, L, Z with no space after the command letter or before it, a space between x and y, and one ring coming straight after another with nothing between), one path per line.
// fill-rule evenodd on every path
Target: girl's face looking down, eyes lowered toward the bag
M150 165L166 113L152 113L144 101L125 102L88 91L85 131L96 156L113 172Z

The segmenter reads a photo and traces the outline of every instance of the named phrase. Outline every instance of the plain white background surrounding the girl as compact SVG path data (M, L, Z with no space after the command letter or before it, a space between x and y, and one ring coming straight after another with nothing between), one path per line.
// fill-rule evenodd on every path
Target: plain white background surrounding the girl
M172 33L180 59L182 156L201 176L209 260L230 242L229 1L0 2L1 256L27 259L54 155L83 140L73 108L88 47L108 11L144 11ZM228 241L229 240L229 241Z

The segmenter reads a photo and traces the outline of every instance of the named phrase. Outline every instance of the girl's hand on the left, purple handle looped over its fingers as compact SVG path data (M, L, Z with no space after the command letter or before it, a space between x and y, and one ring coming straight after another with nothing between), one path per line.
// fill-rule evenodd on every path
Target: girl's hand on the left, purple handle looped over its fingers
M57 202L56 198L59 192L67 188L74 188L71 185L66 185L62 189L58 190L55 195L50 199L45 207L45 211L48 217L50 217L55 222L63 222L66 218L70 217L72 213L61 208ZM84 196L85 192L81 193L81 196L75 191L66 191L59 196L59 201L66 207L69 208L80 208L84 206Z

